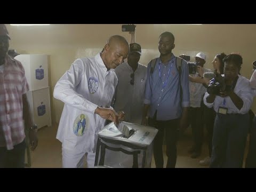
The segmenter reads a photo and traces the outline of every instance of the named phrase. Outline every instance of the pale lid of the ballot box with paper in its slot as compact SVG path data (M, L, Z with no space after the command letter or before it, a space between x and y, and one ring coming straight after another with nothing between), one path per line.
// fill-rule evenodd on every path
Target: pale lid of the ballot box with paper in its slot
M114 122L112 122L99 131L98 137L147 147L153 142L157 132L157 129L150 126L120 122L117 127Z

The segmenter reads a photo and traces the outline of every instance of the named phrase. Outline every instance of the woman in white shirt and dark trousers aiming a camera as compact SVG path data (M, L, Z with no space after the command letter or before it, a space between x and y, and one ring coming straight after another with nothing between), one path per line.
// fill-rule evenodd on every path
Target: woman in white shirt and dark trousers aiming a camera
M249 79L239 75L241 55L229 54L223 61L225 85L218 94L204 95L204 104L217 114L210 167L242 167L253 94Z

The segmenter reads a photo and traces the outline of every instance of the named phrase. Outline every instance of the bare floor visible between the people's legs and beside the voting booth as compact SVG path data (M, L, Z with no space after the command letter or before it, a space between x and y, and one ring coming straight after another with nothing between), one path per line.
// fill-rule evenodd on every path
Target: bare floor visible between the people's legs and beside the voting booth
M38 146L35 151L31 151L31 167L61 167L61 142L55 139L57 126L43 127L38 130ZM199 160L207 156L207 145L204 143L202 155L198 158L190 158L187 153L190 147L191 133L189 129L185 132L178 142L178 157L176 167L178 168L205 168L207 166L199 165ZM166 155L164 154L164 165L166 165ZM152 158L152 167L155 167L154 158Z

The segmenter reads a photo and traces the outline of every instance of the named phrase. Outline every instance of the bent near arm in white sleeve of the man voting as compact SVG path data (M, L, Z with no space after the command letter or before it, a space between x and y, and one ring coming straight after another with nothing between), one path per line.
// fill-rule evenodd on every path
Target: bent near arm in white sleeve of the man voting
M83 61L77 59L55 85L53 97L77 109L94 114L98 106L75 91L84 73Z

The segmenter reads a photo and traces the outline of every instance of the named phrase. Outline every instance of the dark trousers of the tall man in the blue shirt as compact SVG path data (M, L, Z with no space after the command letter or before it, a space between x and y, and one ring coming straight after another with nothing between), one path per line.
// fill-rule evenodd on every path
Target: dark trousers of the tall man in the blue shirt
M165 132L166 155L167 155L166 168L175 168L176 160L177 160L177 138L178 138L179 119L172 119L169 121L156 121L155 118L149 118L148 124L149 126L153 126L156 129L158 129L158 132L154 139L154 145L153 145L156 168L164 167L164 157L163 157L164 132Z

